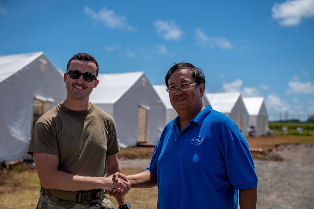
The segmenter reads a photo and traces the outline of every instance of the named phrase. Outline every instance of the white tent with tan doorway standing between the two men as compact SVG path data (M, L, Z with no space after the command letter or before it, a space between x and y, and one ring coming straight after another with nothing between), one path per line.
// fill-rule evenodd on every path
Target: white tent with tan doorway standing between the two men
M165 106L143 72L99 74L89 101L116 122L121 147L157 143L165 127Z

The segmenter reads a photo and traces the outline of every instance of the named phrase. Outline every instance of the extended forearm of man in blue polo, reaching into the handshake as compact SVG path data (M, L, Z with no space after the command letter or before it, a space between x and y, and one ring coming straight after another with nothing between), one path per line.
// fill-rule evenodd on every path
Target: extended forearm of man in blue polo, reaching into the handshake
M127 179L131 184L131 188L151 188L157 186L157 177L149 170L134 175L128 175Z

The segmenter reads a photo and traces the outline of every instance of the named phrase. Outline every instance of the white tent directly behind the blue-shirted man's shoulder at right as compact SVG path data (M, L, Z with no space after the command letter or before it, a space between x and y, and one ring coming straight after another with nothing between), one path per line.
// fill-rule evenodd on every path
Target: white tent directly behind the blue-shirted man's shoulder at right
M214 110L224 113L237 124L244 136L248 135L249 115L240 92L206 93L205 96Z

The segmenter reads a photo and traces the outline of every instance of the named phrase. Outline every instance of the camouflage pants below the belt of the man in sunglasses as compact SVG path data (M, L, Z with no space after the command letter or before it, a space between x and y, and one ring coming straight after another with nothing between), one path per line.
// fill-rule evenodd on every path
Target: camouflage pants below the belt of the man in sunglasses
M38 202L38 209L114 209L112 202L105 195L91 201L76 203L75 201L56 199L44 194L41 194Z

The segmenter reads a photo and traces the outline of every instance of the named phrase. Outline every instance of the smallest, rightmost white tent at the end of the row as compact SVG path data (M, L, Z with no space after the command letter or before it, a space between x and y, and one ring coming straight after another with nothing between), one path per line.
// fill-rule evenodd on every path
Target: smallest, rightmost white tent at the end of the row
M243 97L243 102L249 113L249 126L254 127L255 136L264 136L268 132L268 114L264 97Z

